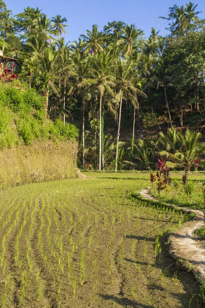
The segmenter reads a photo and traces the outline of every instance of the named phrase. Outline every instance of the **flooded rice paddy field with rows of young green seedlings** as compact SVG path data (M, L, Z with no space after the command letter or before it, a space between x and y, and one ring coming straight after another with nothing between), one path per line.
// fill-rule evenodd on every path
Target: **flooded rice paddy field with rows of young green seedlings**
M128 199L149 173L85 174L0 191L0 306L203 307L162 236L186 215Z

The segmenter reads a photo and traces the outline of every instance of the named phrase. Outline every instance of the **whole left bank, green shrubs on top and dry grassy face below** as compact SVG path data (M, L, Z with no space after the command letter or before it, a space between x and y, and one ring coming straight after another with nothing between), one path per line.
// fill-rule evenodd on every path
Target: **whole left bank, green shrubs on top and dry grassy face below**
M0 187L76 177L78 129L46 117L34 89L0 83Z

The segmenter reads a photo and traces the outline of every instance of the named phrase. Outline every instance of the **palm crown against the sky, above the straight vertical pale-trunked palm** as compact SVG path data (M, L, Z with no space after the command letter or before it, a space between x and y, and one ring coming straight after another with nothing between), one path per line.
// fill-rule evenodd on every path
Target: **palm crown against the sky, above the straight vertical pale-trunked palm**
M87 30L86 33L87 35L80 35L84 40L84 54L91 51L91 55L93 56L96 52L103 51L103 47L100 45L103 43L103 33L98 32L97 25L93 25L92 31Z

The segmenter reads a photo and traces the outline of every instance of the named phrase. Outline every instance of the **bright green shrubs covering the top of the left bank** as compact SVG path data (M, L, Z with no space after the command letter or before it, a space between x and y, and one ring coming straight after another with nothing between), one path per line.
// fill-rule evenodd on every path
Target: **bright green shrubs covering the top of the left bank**
M78 129L46 119L44 98L34 89L0 83L0 148L29 145L33 140L74 140Z

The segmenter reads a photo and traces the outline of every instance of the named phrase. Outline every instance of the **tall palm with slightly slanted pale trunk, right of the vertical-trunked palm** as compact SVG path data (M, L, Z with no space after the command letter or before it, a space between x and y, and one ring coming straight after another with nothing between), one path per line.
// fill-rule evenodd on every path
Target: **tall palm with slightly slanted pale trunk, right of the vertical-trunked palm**
M118 144L119 144L119 132L120 132L120 124L121 124L121 107L122 107L122 99L124 95L127 95L129 100L135 106L136 104L136 93L140 92L142 95L146 96L146 94L136 87L133 86L133 79L135 76L134 61L127 60L122 61L119 59L118 71L117 71L117 85L119 88L119 92L117 94L119 104L119 118L118 118L118 129L117 129L117 144L116 144L116 159L115 159L115 171L117 171L117 158L118 158Z

